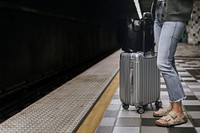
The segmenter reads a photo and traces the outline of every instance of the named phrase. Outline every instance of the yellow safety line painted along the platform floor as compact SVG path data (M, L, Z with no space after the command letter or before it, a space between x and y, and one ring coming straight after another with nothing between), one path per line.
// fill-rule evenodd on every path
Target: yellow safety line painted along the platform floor
M102 94L99 101L79 127L77 133L94 133L119 85L119 73Z

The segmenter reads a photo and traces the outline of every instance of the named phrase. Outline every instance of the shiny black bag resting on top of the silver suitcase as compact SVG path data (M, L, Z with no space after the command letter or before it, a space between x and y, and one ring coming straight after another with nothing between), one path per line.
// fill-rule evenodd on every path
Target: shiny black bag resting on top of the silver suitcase
M121 31L121 48L123 51L128 53L154 51L155 44L151 13L144 13L143 18L140 20L126 18L123 24L124 26ZM145 38L145 44L143 44L143 38ZM143 45L145 45L145 47Z

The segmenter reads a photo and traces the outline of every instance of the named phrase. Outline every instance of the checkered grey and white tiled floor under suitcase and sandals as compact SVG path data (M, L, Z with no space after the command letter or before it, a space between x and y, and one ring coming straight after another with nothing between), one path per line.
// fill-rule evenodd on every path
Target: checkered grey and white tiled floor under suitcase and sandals
M184 113L188 122L183 125L165 128L158 127L153 117L155 106L148 106L144 114L138 114L134 106L125 110L121 106L119 98L119 86L112 96L98 126L92 130L90 126L95 120L97 112L93 112L85 130L80 127L79 132L95 133L200 133L200 46L179 44L176 52L176 66L180 75L181 84L187 98L183 101ZM119 75L114 80L119 81ZM113 81L116 84L116 81ZM112 83L111 83L112 84ZM115 86L116 87L116 86ZM105 97L103 98L105 99ZM161 100L163 106L169 104L168 93L164 79L161 77ZM104 102L105 103L105 102ZM101 106L101 105L100 105ZM101 107L96 107L97 109ZM84 125L84 124L83 124ZM84 127L83 127L84 128Z

